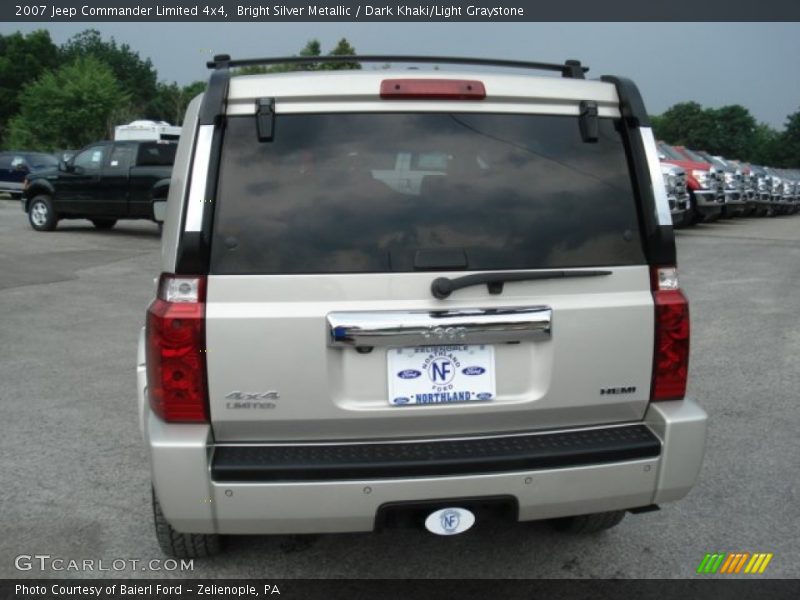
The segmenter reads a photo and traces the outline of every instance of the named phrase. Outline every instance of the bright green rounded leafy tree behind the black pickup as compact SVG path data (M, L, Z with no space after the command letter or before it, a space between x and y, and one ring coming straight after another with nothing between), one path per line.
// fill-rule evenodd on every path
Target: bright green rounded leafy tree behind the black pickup
M11 119L8 144L52 151L79 148L106 137L115 113L130 97L114 73L93 56L48 71L26 86Z

